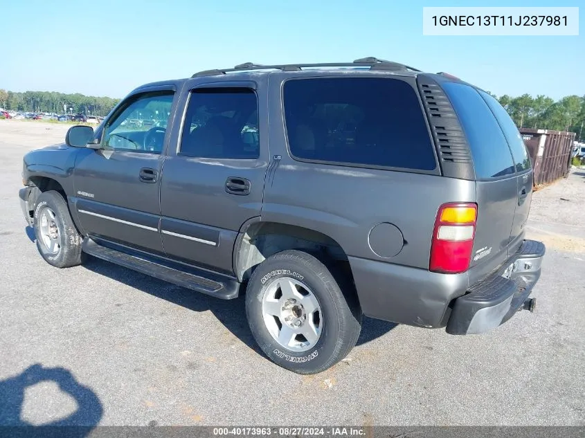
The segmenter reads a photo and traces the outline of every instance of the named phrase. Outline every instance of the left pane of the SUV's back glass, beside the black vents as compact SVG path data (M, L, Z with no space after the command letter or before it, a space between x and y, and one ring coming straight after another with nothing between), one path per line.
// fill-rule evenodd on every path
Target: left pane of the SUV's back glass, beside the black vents
M442 88L449 97L465 131L478 179L514 174L514 162L506 138L476 89L447 82Z

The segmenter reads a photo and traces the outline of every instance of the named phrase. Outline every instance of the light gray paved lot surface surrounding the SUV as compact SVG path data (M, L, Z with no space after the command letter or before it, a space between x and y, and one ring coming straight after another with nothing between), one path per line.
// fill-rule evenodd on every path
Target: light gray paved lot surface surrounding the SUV
M258 352L241 298L42 260L21 159L67 128L0 120L0 425L585 425L585 171L534 194L535 313L481 336L366 319L350 361L298 376Z

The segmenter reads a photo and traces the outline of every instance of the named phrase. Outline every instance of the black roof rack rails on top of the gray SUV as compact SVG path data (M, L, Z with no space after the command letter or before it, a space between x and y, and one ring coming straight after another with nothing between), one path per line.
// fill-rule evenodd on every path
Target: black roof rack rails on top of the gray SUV
M225 75L234 71L252 71L252 70L280 70L280 71L301 71L302 69L310 69L314 67L370 67L370 70L385 70L385 71L420 71L413 67L399 64L398 62L379 60L376 57L365 57L355 60L354 62L326 62L323 64L276 64L276 65L262 65L254 64L253 62L244 62L244 64L237 64L233 69L213 69L199 71L191 77Z

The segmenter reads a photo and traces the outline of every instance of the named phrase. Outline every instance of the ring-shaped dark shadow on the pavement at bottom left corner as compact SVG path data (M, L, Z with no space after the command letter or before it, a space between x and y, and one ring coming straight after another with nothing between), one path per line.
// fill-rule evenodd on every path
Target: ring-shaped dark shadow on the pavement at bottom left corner
M24 420L22 409L25 391L28 387L42 382L57 383L62 392L73 397L77 403L77 410L64 419L42 423L41 426ZM35 400L35 403L39 401ZM0 435L7 432L10 437L46 437L63 432L55 430L57 426L60 428L75 426L67 428L67 437L87 437L100 422L102 414L102 403L96 393L89 387L81 385L68 369L62 367L45 368L35 364L17 376L0 381Z

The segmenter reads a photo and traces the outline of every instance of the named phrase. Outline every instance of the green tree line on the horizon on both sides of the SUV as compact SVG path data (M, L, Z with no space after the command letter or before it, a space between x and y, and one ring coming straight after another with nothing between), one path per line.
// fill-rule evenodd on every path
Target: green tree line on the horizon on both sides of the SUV
M537 95L536 98L530 94L523 94L515 98L507 94L494 97L512 116L519 128L572 131L577 133L577 138L583 138L585 95L581 97L568 95L556 102L545 95ZM0 89L0 107L33 113L62 113L65 104L67 112L106 116L118 102L119 99L100 98L80 93L64 94L54 91L15 93ZM73 108L73 110L70 111L69 108Z

